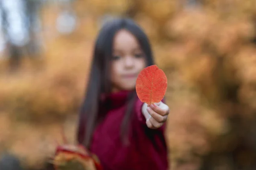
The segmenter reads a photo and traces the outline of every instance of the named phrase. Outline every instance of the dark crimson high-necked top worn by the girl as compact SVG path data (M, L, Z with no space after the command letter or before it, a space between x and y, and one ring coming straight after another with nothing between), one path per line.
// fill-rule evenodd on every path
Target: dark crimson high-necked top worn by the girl
M130 143L123 145L120 126L127 107L128 93L121 91L111 94L106 98L111 101L108 109L104 110L104 106L100 106L100 114L105 114L105 118L94 130L90 151L98 156L104 170L167 170L165 125L156 130L149 129L141 112L143 103L138 98L128 133Z

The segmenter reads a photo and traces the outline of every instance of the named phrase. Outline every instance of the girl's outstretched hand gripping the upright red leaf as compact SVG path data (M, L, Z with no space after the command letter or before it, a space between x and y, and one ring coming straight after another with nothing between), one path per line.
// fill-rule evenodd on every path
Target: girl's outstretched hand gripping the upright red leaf
M157 129L166 122L169 107L163 102L154 103L150 106L144 103L142 106L142 113L145 116L148 128Z

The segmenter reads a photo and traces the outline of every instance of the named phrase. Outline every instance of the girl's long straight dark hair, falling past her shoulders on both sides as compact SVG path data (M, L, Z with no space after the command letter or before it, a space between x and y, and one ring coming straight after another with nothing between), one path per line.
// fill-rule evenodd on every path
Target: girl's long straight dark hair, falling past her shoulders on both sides
M105 25L99 31L99 35L96 39L89 82L79 114L77 140L80 144L84 144L87 148L90 147L92 133L96 123L98 122L100 95L103 93L111 93L110 68L113 39L116 33L121 29L129 31L137 38L140 47L145 54L145 59L147 61L146 64L148 66L154 64L151 45L148 37L140 26L134 23L133 20L128 18L118 18L105 23ZM128 108L126 110L121 128L122 136L125 136L128 129L135 97L136 91L134 90L134 92L131 93L128 98Z

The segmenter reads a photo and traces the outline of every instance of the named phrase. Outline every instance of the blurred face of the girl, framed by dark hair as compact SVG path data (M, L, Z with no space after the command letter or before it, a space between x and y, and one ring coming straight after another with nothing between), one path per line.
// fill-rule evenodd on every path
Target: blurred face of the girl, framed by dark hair
M126 30L116 33L111 64L112 91L134 90L136 79L146 67L146 59L136 37Z

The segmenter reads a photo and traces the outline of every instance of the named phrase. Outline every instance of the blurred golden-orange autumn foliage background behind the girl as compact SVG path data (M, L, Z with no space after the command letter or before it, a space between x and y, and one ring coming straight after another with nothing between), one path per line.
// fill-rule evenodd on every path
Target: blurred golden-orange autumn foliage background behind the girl
M75 144L99 28L133 18L168 78L172 170L256 169L256 0L0 0L0 170Z

